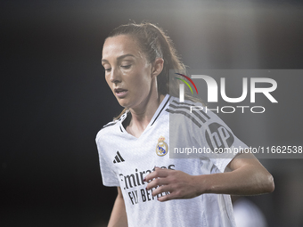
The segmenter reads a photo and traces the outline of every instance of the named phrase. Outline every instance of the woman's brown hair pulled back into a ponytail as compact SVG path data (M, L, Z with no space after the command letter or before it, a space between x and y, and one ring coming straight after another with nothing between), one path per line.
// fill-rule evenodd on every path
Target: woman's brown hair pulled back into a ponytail
M157 58L164 60L163 69L157 77L158 93L170 93L177 97L179 80L174 80L169 83L169 69L184 73L185 66L184 63L180 61L172 40L163 29L149 22L140 24L128 23L114 28L108 37L119 35L133 36L143 53L145 53L148 61L153 62ZM198 101L187 93L185 93L185 99ZM123 109L117 118L120 118L126 110L127 109Z

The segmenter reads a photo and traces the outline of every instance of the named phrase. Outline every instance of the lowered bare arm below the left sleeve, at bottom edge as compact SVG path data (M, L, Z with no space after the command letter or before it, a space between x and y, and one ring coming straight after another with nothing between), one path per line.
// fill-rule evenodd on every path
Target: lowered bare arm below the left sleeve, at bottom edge
M127 227L127 212L120 188L111 211L111 218L108 227Z

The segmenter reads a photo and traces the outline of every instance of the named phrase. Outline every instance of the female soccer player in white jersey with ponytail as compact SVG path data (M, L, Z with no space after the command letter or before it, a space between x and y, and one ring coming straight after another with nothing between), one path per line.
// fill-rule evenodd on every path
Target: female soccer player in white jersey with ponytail
M169 158L169 115L178 119L174 141L184 146L214 150L208 132L216 130L228 134L228 146L246 146L212 112L189 117L191 97L180 102L168 94L169 69L184 65L161 28L115 28L104 42L102 66L125 108L96 137L102 182L118 187L109 226L235 226L226 194L274 191L272 175L251 154Z

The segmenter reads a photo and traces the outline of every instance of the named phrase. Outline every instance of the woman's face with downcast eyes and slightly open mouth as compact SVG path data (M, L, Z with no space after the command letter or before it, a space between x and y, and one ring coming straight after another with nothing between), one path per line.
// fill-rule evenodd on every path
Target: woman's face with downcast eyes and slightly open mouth
M102 66L106 82L121 106L144 105L151 92L151 63L132 36L108 37L103 45Z

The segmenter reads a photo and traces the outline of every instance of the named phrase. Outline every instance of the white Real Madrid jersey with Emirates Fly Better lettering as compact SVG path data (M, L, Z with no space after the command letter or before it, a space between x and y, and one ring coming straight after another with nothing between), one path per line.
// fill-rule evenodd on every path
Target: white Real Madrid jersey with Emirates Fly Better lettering
M143 182L143 178L155 166L181 170L191 175L214 174L225 172L225 167L233 158L209 158L203 154L201 158L169 158L169 153L174 152L169 148L170 114L182 118L176 122L176 126L199 132L192 136L182 133L183 130L178 131L180 137L177 141L187 142L188 146L210 147L213 150L212 146L216 142L210 142L213 139L208 132L212 132L214 126L223 126L233 137L232 140L228 139L228 146L246 147L214 113L203 112L200 113L202 118L191 118L188 114L189 108L184 106L188 107L192 103L180 103L175 97L166 95L139 138L128 134L122 125L127 113L119 120L104 126L97 134L102 182L105 186L121 188L129 227L235 226L229 195L203 194L193 199L160 202L157 197L151 196L151 191L145 189L147 182Z

